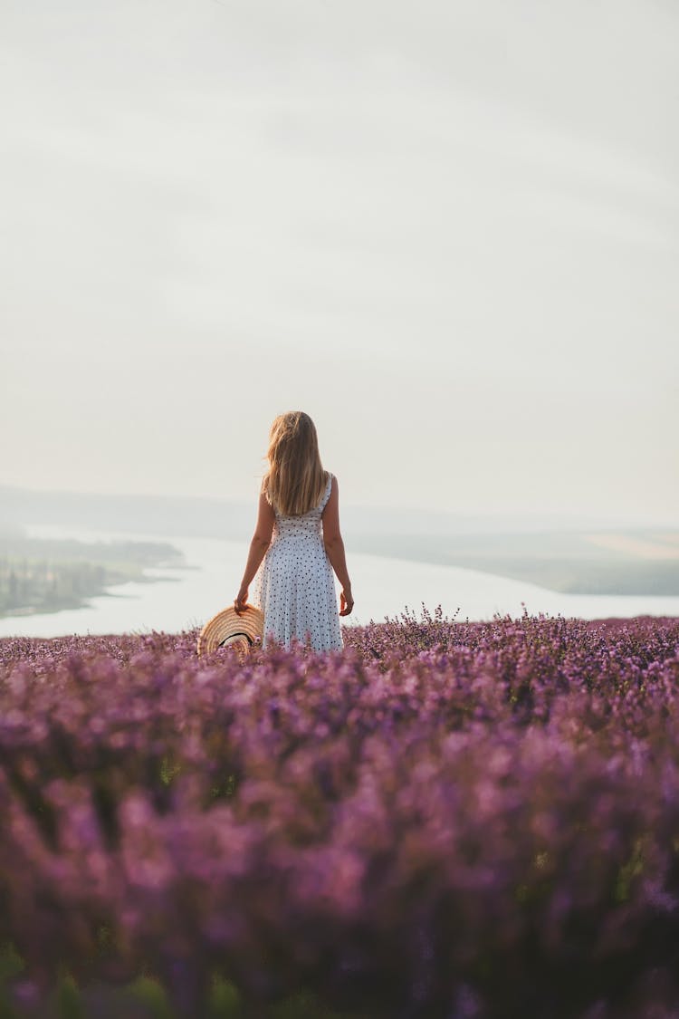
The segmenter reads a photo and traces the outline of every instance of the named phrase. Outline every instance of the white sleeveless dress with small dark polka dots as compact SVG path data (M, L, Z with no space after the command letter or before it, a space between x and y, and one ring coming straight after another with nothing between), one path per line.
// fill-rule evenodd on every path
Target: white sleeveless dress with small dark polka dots
M252 581L252 603L264 612L264 639L290 647L310 641L315 651L344 646L335 575L323 544L321 515L330 498L332 474L314 509L284 517L274 509L272 540Z

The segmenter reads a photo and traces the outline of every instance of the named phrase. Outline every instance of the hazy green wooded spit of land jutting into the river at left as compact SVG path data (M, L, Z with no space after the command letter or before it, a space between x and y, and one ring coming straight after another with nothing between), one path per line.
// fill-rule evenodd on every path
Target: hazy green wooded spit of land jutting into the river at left
M185 567L168 542L27 538L0 533L0 618L81 608L88 598L126 581L160 579L149 568ZM167 579L167 578L163 578Z

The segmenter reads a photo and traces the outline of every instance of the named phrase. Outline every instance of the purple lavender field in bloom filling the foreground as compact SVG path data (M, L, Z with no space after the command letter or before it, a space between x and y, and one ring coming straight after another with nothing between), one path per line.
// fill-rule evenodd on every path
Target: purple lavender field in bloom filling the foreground
M0 640L0 1017L679 1015L679 620Z

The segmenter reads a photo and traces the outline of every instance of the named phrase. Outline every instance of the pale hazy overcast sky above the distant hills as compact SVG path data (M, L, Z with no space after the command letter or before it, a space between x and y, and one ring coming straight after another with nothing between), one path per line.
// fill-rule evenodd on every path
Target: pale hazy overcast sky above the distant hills
M674 0L2 0L0 480L679 524Z

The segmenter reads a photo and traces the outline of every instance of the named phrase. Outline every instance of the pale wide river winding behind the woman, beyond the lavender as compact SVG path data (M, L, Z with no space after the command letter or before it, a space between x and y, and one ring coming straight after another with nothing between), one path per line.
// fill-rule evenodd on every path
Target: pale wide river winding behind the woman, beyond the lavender
M69 634L178 633L202 626L231 604L245 564L246 542L203 538L159 538L128 531L86 531L33 526L31 537L75 538L79 541L168 541L184 555L186 567L149 569L153 583L127 582L89 599L87 607L0 619L0 637L59 637ZM495 613L605 619L633 615L679 615L679 597L559 594L520 581L407 559L352 553L347 549L356 599L347 624L394 618L406 606L419 614L422 602L437 605L459 621L488 620Z

